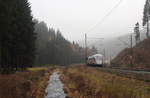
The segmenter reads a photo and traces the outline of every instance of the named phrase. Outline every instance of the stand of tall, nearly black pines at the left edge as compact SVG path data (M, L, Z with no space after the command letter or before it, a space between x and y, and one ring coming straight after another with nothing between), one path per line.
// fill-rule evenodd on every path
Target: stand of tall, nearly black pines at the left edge
M31 66L35 55L35 33L27 0L0 0L0 47L3 69Z

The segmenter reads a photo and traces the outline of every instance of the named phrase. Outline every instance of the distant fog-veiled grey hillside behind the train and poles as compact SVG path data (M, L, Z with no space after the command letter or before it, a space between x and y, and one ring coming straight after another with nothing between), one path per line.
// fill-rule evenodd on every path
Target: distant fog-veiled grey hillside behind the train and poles
M140 30L141 32L141 40L144 40L146 38L146 29L142 29ZM104 49L105 49L105 55L106 55L106 59L109 60L110 58L113 59L114 57L116 57L122 50L124 50L125 48L129 47L130 45L130 35L129 34L125 34L119 37L112 37L112 38L105 38L103 40L90 40L89 41L89 46L95 46L100 53L104 53ZM133 45L135 45L135 34L133 35ZM122 41L120 41L120 39ZM127 44L124 44L127 43Z

